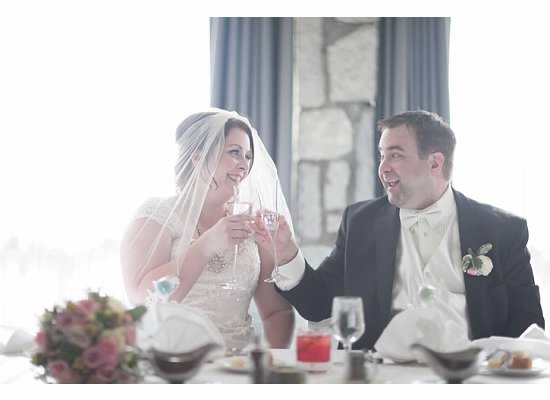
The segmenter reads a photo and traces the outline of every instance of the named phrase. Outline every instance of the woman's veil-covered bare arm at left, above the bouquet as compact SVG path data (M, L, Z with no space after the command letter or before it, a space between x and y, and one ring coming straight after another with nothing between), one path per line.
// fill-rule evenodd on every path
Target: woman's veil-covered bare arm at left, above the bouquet
M197 281L208 262L208 249L196 240L183 256L170 260L172 238L157 222L138 219L128 228L121 245L121 264L124 285L129 300L143 303L152 281L174 275L181 263L180 285L171 300L181 301Z

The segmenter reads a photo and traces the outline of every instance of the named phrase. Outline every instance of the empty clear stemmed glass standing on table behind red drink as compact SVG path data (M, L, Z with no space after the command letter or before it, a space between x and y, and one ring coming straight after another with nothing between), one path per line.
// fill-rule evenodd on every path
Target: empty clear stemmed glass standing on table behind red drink
M335 297L332 301L331 325L334 337L349 352L351 344L365 333L363 299L353 296Z

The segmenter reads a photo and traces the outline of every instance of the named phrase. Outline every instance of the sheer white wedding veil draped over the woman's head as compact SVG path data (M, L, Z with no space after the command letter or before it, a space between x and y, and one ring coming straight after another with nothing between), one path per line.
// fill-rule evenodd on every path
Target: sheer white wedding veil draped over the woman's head
M285 217L294 235L290 210L282 192L277 169L256 130L248 119L236 112L209 109L187 117L176 130L177 189L174 200L168 206L166 202L147 205L149 209L146 218L154 218L155 222L162 225L162 229L151 242L147 256L140 262L137 271L134 271L137 280L141 281L155 267L151 265L150 259L166 231L173 237L178 237L177 248L172 254L181 255L189 248L207 192L217 185L213 177L223 154L225 125L231 119L240 120L250 128L253 142L253 161L248 176L239 185L239 200L252 203L253 213L259 208L276 210ZM138 212L136 218L142 217L143 213ZM181 266L178 265L171 274L179 276L180 269Z

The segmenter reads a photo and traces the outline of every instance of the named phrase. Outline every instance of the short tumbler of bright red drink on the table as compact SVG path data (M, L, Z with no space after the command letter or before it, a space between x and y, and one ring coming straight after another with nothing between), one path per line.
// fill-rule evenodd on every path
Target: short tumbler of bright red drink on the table
M296 361L306 371L324 372L330 367L331 347L329 329L300 329L296 335Z

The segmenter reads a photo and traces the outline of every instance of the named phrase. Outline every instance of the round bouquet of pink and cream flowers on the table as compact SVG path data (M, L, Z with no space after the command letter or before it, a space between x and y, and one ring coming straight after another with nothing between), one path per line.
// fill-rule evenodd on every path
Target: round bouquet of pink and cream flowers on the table
M90 292L46 310L36 334L34 365L58 383L133 383L139 377L136 322L146 308L127 310L108 296Z

